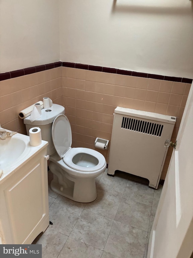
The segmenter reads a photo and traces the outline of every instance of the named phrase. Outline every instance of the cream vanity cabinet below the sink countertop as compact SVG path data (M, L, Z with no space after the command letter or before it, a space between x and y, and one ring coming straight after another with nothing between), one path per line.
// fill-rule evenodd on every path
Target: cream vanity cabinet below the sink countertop
M49 226L46 146L0 181L1 244L31 244Z

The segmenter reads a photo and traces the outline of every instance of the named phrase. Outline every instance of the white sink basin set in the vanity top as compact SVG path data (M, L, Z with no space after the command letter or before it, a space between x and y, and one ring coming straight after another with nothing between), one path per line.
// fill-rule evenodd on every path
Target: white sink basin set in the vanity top
M26 142L17 135L0 140L0 169L5 170L24 158L27 154L25 149Z

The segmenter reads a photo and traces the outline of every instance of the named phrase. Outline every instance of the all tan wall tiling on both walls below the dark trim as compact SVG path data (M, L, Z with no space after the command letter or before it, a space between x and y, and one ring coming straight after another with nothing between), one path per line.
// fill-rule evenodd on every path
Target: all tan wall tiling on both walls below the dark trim
M116 106L177 116L172 135L172 141L175 141L190 83L111 73L108 69L113 68L102 72L84 70L82 66L81 69L53 68L51 64L46 67L49 70L41 67L36 67L36 72L34 67L22 69L24 73L21 71L15 78L14 71L1 74L4 77L0 81L0 123L3 128L26 134L23 120L18 118L19 111L48 96L53 103L65 107L71 123L72 147L94 149L96 137L110 140ZM30 74L23 75L26 73ZM109 150L97 151L108 163ZM161 179L165 179L171 154L169 147Z

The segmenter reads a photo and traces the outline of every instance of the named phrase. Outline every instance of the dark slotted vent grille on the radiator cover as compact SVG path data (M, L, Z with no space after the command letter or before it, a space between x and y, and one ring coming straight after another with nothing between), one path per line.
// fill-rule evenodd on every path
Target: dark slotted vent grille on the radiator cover
M143 132L150 135L161 136L163 125L151 123L151 122L145 122L142 120L123 116L121 128L136 131L136 132Z

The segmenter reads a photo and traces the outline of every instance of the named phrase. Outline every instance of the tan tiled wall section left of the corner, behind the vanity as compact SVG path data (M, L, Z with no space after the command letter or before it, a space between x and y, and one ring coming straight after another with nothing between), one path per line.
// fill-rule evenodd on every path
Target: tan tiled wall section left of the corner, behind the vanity
M1 126L26 134L18 113L45 96L62 105L61 67L0 81Z

